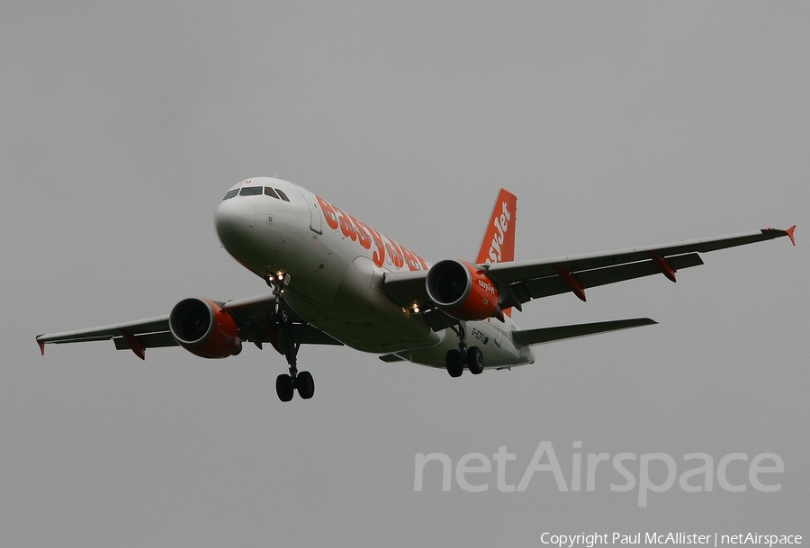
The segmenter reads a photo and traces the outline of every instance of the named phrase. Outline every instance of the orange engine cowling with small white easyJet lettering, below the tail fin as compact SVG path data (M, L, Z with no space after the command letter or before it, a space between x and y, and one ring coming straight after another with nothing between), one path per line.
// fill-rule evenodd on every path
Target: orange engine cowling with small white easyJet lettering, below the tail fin
M428 296L456 319L502 318L498 288L477 265L448 259L428 270Z

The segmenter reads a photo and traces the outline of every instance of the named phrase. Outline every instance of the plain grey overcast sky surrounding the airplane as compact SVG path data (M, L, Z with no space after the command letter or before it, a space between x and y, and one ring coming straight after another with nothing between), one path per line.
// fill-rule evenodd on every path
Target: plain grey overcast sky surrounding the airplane
M808 25L799 2L4 2L0 544L807 538ZM39 355L43 332L266 292L212 223L229 186L257 175L431 261L474 258L501 186L518 195L518 258L794 223L798 245L527 304L524 328L660 325L537 346L511 372L451 379L305 347L315 397L283 404L286 364L268 348ZM742 453L727 475L748 487L676 481L639 508L638 489L610 489L624 480L609 463L594 492L537 472L510 493L494 468L468 475L486 492L455 475L443 492L431 463L414 491L416 454L455 466L506 446L517 484L544 441L569 485L575 453L669 454L679 476L698 464L685 454L712 455L716 472ZM761 453L784 462L763 476L779 492L752 488Z

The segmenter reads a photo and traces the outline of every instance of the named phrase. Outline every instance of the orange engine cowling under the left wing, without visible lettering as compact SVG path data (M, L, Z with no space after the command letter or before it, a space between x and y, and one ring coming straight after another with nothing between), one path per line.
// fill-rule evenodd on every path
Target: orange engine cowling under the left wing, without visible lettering
M169 329L180 346L203 358L224 358L242 350L236 320L207 299L185 299L169 314Z

